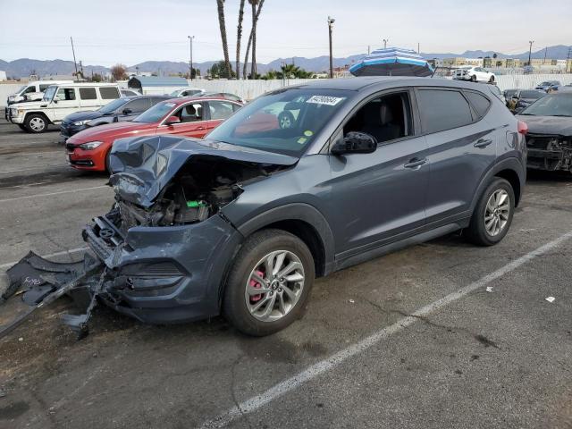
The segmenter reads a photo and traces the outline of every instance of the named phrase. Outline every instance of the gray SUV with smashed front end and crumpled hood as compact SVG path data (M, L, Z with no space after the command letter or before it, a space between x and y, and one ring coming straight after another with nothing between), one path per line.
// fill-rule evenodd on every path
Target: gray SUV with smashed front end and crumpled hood
M205 140L117 140L114 207L83 231L99 296L148 323L277 332L315 277L458 230L501 241L525 133L487 85L357 78L258 97Z

